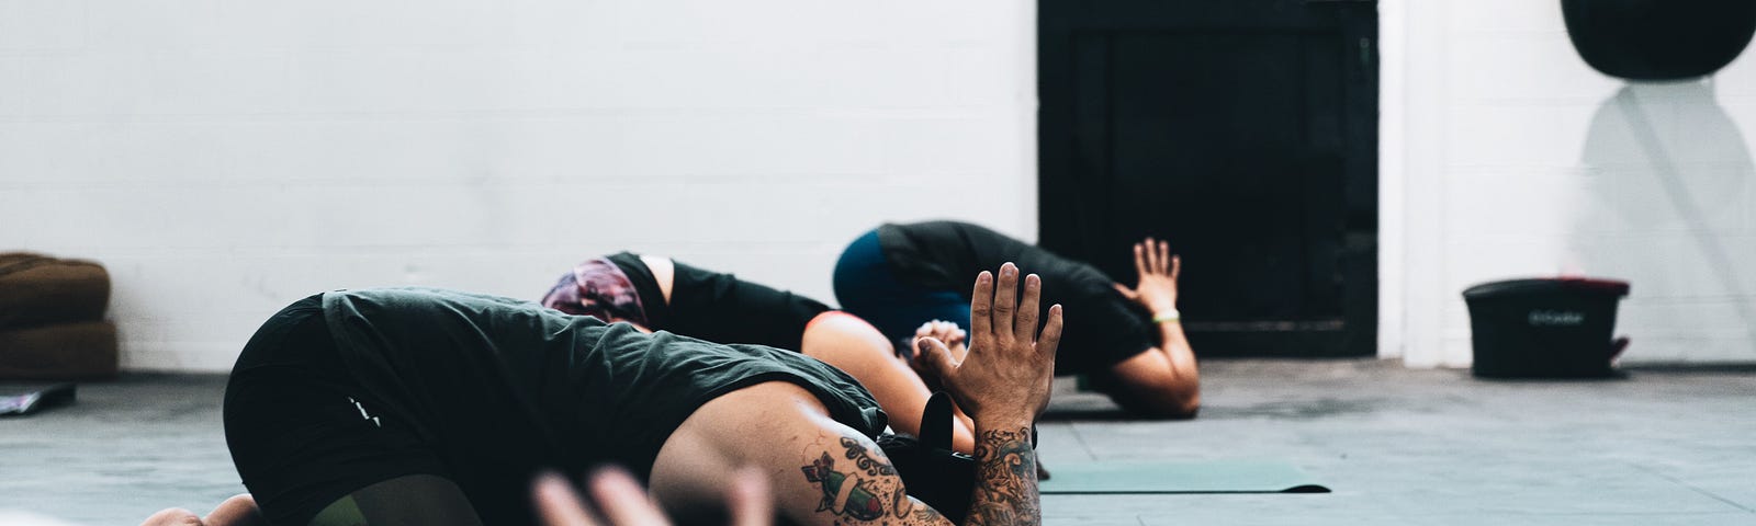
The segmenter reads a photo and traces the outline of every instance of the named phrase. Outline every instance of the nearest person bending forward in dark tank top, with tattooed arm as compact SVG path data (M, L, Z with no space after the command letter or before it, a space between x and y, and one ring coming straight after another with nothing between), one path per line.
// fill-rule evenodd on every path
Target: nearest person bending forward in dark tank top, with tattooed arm
M1041 521L1031 423L1062 309L1040 296L1013 265L983 272L968 354L918 342L975 417L969 524ZM270 524L529 524L534 475L599 463L627 466L674 515L722 501L753 466L794 524L952 524L873 442L885 421L859 382L804 354L441 289L297 302L251 337L225 393L227 444Z

